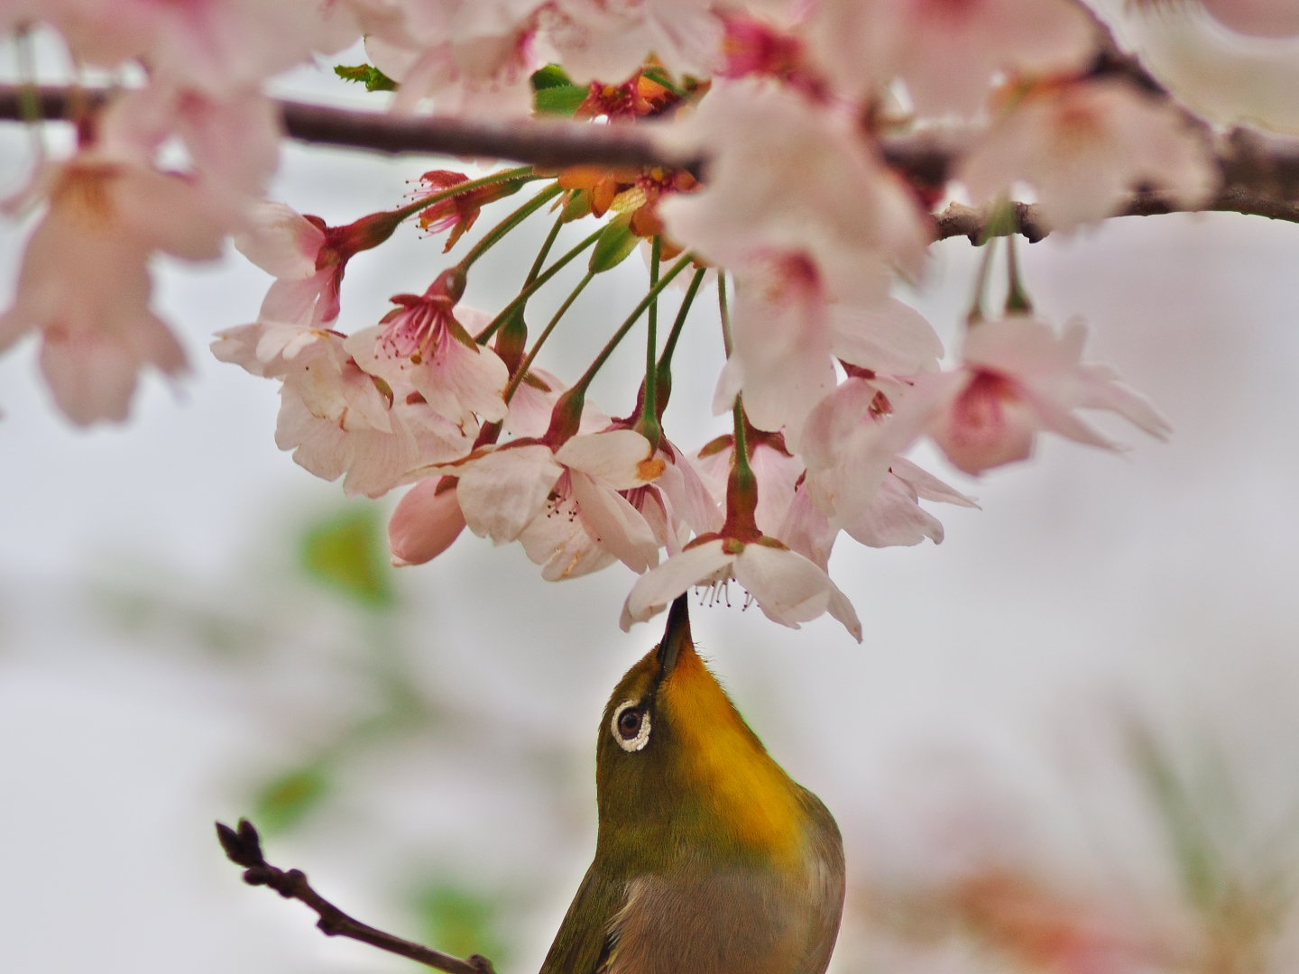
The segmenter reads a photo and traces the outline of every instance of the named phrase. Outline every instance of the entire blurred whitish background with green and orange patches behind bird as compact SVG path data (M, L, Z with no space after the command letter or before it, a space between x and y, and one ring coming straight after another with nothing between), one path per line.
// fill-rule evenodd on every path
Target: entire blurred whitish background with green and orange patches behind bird
M373 104L329 65L283 92ZM5 194L26 144L0 130ZM271 195L343 223L447 165L288 147ZM29 229L0 227L0 304ZM544 230L466 300L512 295ZM349 265L348 327L442 266L440 240L399 238ZM831 970L1294 970L1299 227L1128 218L1021 255L1039 310L1085 318L1089 357L1172 442L1044 438L977 482L921 455L982 510L935 509L938 548L840 544L863 645L738 599L698 609L696 636L843 830ZM939 245L908 295L944 339L977 257ZM212 822L248 816L360 918L535 970L594 849L599 714L659 623L618 630L621 566L552 586L465 535L388 568L392 499L348 501L279 453L275 386L207 349L269 278L233 251L157 271L192 374L145 379L127 426L58 418L34 343L0 358L0 968L410 969L243 886ZM601 278L547 365L572 379L643 282L637 260ZM673 416L707 414L720 342L690 342L668 430L695 448L721 427ZM630 408L635 344L607 412Z

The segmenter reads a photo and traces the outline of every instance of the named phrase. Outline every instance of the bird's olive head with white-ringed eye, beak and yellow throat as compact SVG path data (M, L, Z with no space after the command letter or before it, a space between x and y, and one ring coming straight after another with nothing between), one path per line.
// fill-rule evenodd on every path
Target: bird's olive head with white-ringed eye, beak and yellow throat
M695 652L681 596L662 642L604 708L598 861L646 870L699 849L795 858L807 814L800 796Z

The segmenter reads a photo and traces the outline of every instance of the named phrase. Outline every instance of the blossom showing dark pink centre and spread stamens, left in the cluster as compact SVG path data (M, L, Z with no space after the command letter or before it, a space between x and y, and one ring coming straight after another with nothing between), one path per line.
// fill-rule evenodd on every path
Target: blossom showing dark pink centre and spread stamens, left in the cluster
M456 423L505 418L509 370L474 342L461 321L482 327L491 316L456 306L439 278L423 295L396 295L383 322L356 332L347 349L372 375L409 384L429 408Z

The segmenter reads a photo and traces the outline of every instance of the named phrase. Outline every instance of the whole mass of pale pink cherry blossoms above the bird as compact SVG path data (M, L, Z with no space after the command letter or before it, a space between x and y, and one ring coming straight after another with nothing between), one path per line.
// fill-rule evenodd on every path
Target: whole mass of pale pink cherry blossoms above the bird
M1113 40L1074 0L0 4L0 29L27 25L57 31L78 65L143 66L144 81L88 109L75 151L23 194L44 212L0 348L39 332L60 409L121 419L144 366L174 375L186 361L151 308L151 258L210 260L234 238L275 281L216 355L281 384L277 443L312 473L370 497L413 484L391 523L399 564L435 557L468 526L521 543L547 579L621 561L639 574L624 626L734 581L778 622L829 613L861 639L827 574L837 539L937 543L921 501L973 504L907 458L917 442L978 474L1026 458L1043 431L1115 448L1079 410L1168 431L1085 360L1081 323L1034 313L1013 248L1004 306L987 309L981 281L951 355L896 297L924 275L946 200L983 206L995 236L1012 194L1070 229L1137 191L1183 209L1216 192L1202 130L1113 69ZM635 125L665 156L705 165L436 170L414 203L338 227L265 200L281 139L268 81L362 38L394 112ZM885 152L905 132L955 134L960 149L922 179ZM344 301L348 262L405 221L448 234L449 251L483 206L523 188L518 209L386 313ZM640 313L653 319L672 277L692 275L674 332L647 330L644 381L621 418L587 401L603 353L565 382L534 361L549 329L523 325L531 293L579 251L549 258L552 234L508 306L462 300L483 253L547 205L556 229L595 227L591 274L647 251L646 300L609 348ZM713 405L734 426L687 447L664 405L675 334L704 287L726 332Z

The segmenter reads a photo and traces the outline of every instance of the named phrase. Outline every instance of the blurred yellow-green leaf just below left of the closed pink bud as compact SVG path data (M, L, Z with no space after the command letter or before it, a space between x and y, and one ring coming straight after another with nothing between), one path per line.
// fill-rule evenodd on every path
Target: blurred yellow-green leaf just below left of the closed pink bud
M386 608L396 600L386 531L372 504L349 506L308 527L301 564L310 579L364 605Z

